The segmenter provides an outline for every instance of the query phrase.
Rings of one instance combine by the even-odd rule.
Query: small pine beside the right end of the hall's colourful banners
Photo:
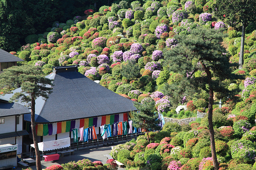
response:
[[[146,98],[142,104],[134,102],[133,105],[139,110],[133,111],[131,118],[132,125],[136,128],[146,129],[147,140],[149,142],[148,132],[149,130],[160,130],[160,120],[157,120],[158,114],[155,109],[155,101],[151,98]]]

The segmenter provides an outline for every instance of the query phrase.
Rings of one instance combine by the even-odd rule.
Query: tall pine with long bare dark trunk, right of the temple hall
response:
[[[169,64],[169,70],[183,75],[181,81],[177,84],[183,87],[183,92],[191,92],[192,87],[195,90],[202,88],[209,93],[208,105],[208,123],[211,140],[211,154],[214,169],[218,170],[219,165],[215,150],[214,129],[212,124],[212,105],[214,102],[214,91],[221,91],[220,82],[231,77],[229,60],[223,55],[225,49],[221,47],[219,41],[223,34],[214,29],[198,27],[191,31],[190,35],[176,35],[178,45],[172,50],[165,51],[165,59]],[[195,72],[204,72],[202,76],[195,76]],[[188,84],[189,88],[183,84]],[[169,90],[167,89],[166,92]],[[173,91],[180,91],[173,88]],[[172,95],[172,94],[167,94]],[[181,96],[182,97],[182,96]]]

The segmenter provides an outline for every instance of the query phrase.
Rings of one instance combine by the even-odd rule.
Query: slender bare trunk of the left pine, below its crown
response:
[[[37,135],[35,132],[35,99],[31,98],[31,129],[32,129],[32,135],[33,135],[33,142],[35,146],[35,165],[37,167],[37,170],[42,170],[41,166],[41,158],[38,148],[38,142],[37,142]]]

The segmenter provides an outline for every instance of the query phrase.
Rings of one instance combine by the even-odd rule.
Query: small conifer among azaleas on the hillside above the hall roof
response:
[[[140,67],[134,60],[128,60],[121,66],[121,74],[127,79],[133,80],[139,75]],[[131,83],[132,86],[132,83]]]

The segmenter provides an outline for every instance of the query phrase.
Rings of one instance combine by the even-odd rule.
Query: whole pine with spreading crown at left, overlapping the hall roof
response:
[[[7,68],[0,74],[0,88],[13,89],[21,87],[20,92],[14,93],[11,100],[19,100],[31,107],[31,129],[35,146],[37,170],[42,170],[37,135],[35,131],[35,99],[39,96],[47,99],[51,92],[52,80],[45,78],[39,67],[23,65]]]

